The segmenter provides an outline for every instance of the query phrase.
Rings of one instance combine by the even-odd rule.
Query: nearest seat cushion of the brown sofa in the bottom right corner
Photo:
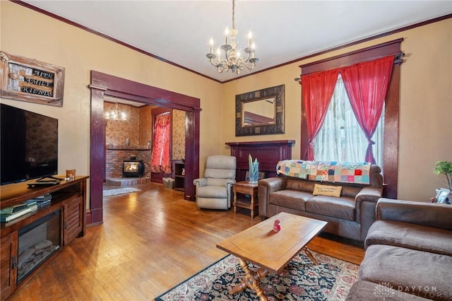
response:
[[[432,300],[451,300],[452,257],[372,244],[359,266],[359,279]]]

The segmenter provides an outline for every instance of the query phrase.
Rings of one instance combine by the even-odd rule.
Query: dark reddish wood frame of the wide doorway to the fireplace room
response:
[[[88,225],[103,222],[102,185],[105,181],[104,96],[123,98],[186,112],[185,192],[184,199],[194,200],[193,179],[199,177],[199,98],[91,71],[91,135],[90,135],[90,206]]]

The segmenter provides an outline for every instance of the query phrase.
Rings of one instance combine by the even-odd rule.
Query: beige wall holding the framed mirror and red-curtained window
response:
[[[223,141],[294,139],[292,158],[300,155],[301,88],[294,81],[299,65],[403,37],[407,54],[401,66],[398,198],[416,201],[446,187],[434,175],[436,160],[452,160],[452,19],[390,35],[294,64],[226,83],[223,89]],[[235,137],[235,95],[285,84],[285,134]],[[227,154],[229,149],[222,147]]]

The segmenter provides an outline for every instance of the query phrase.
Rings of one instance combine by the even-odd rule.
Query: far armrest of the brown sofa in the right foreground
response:
[[[422,203],[398,199],[379,199],[377,220],[396,220],[403,223],[452,230],[452,206],[444,203]]]

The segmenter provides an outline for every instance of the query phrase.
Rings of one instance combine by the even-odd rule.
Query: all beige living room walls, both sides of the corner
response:
[[[348,47],[309,60],[220,84],[36,13],[0,1],[0,49],[66,69],[64,107],[5,102],[59,119],[59,172],[89,174],[90,71],[138,81],[201,99],[200,169],[206,156],[229,154],[225,142],[293,139],[299,158],[301,88],[294,81],[300,64],[403,37],[408,54],[401,68],[399,189],[402,199],[429,199],[444,179],[432,173],[436,160],[452,160],[452,19]],[[18,22],[17,20],[20,20]],[[33,33],[30,34],[30,28]],[[285,84],[285,134],[235,137],[235,95]],[[220,108],[220,110],[218,110]],[[221,126],[216,126],[220,122]],[[215,126],[213,126],[215,125]]]

